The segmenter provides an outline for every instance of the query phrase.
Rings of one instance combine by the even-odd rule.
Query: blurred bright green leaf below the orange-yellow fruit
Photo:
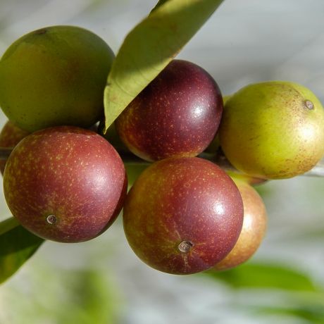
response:
[[[235,289],[275,288],[288,291],[317,292],[311,278],[285,266],[247,263],[237,268],[217,272],[208,270],[206,275],[223,281]]]

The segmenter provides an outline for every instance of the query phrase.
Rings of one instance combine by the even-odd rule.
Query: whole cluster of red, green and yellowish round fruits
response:
[[[2,56],[0,106],[10,121],[0,147],[15,148],[1,171],[13,216],[44,239],[82,242],[123,208],[130,247],[153,268],[189,274],[246,261],[266,230],[251,183],[293,177],[320,160],[320,102],[301,85],[263,82],[223,107],[206,70],[173,60],[104,135],[113,58],[102,39],[72,26],[30,32]],[[242,177],[197,157],[216,154],[218,142]],[[128,194],[118,146],[153,162]]]

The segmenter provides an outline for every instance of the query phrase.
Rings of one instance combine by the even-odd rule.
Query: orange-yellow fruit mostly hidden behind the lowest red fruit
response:
[[[232,180],[237,185],[243,201],[243,226],[235,247],[213,267],[215,270],[228,270],[249,260],[266,233],[268,216],[262,198],[248,182],[235,177],[232,177]]]

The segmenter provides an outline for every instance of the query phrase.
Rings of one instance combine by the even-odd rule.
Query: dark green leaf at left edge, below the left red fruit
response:
[[[0,223],[0,283],[11,277],[44,242],[15,218]]]

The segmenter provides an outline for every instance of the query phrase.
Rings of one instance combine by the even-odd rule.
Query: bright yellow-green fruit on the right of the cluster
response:
[[[264,179],[294,177],[324,154],[324,109],[306,87],[248,85],[225,104],[220,145],[235,168]]]

